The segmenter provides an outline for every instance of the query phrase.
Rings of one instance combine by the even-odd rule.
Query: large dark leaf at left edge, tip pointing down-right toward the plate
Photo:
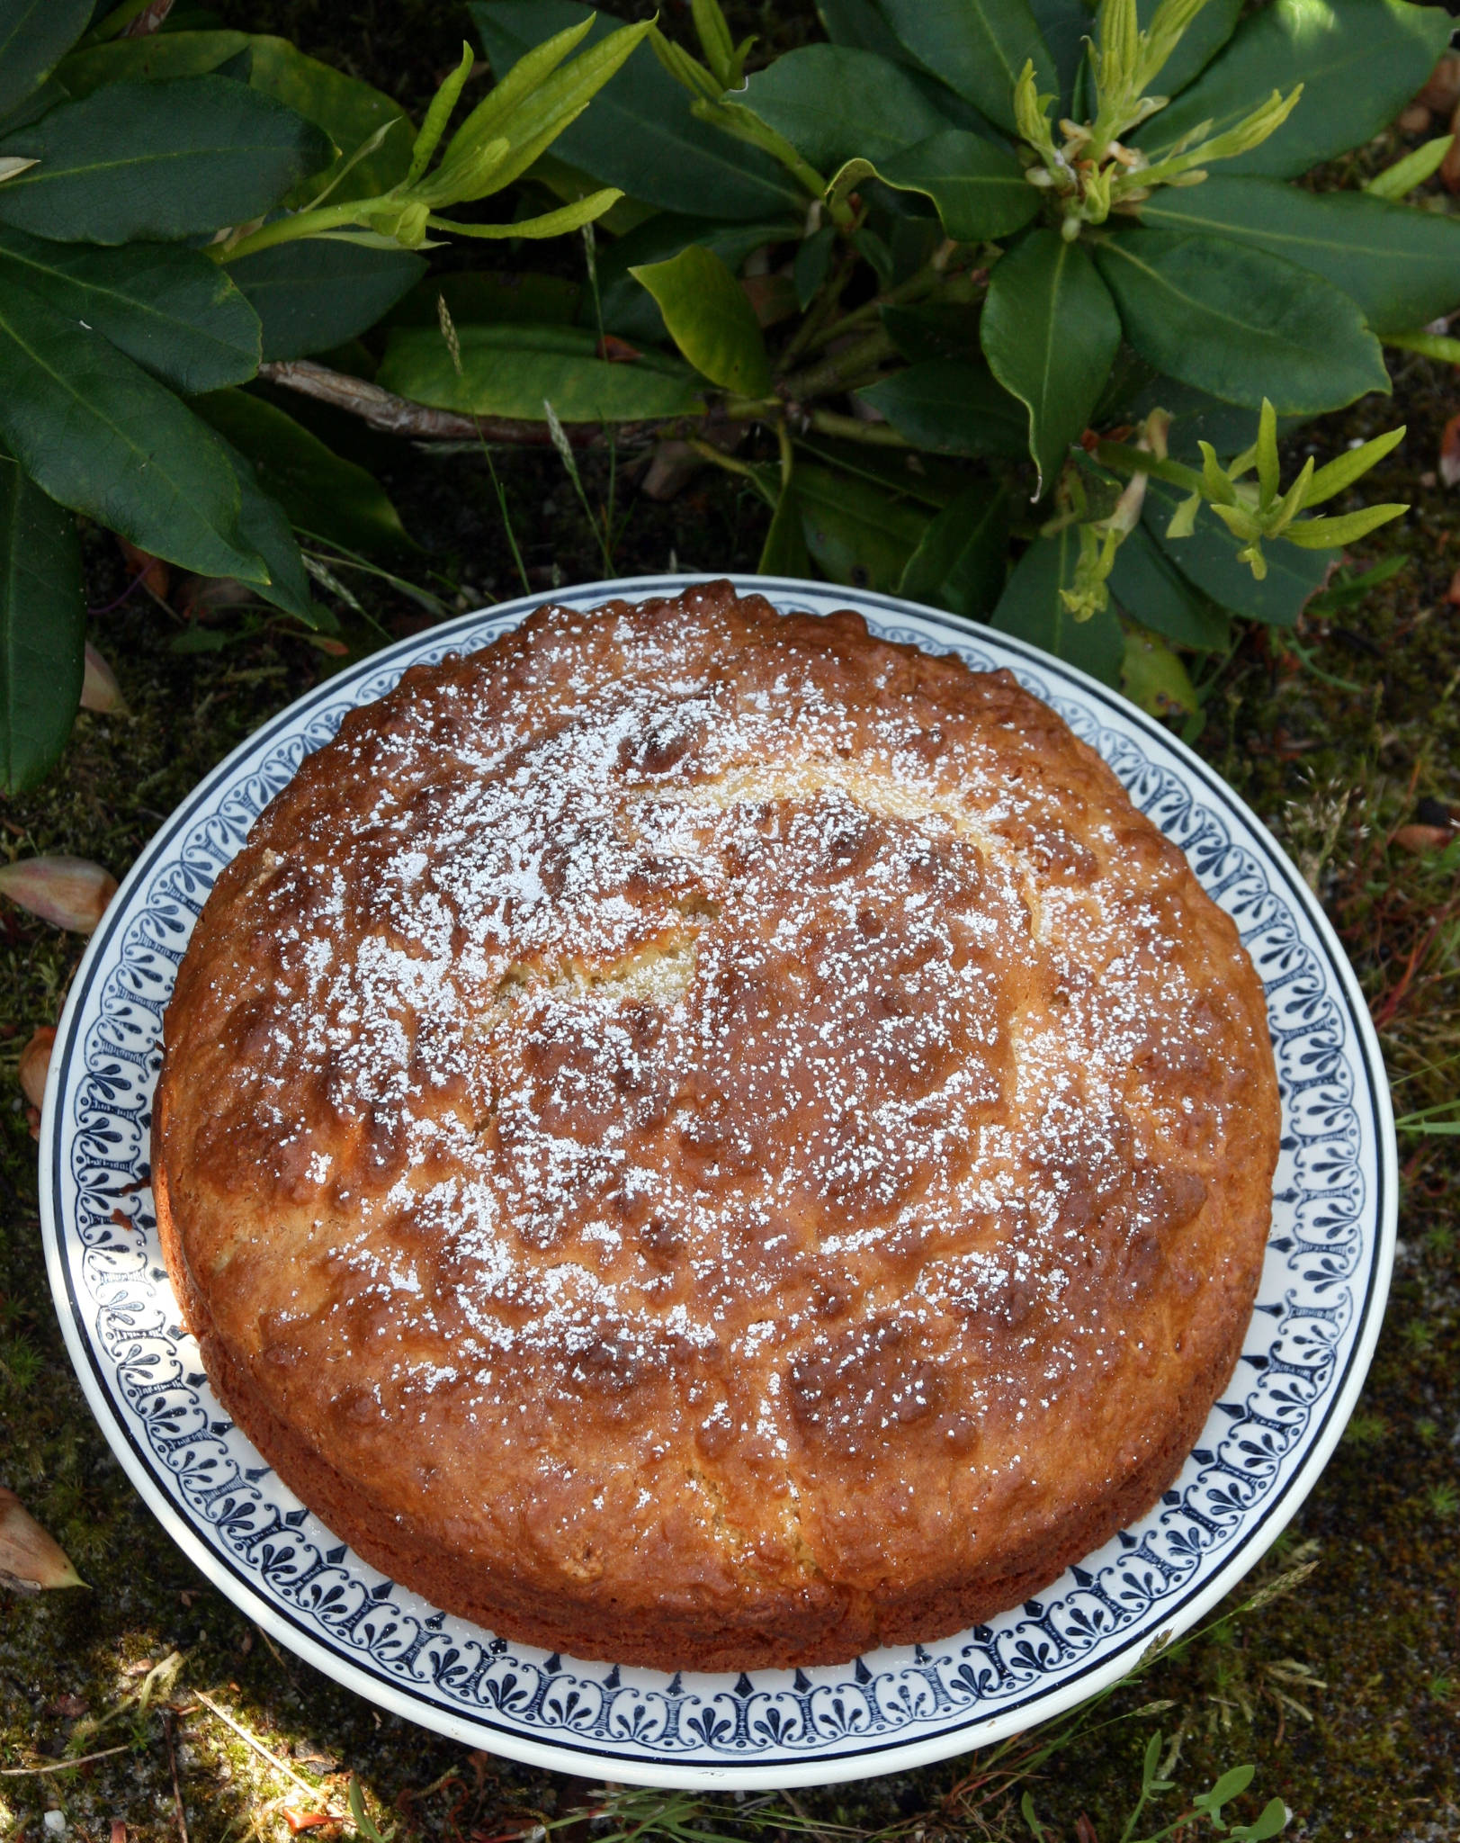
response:
[[[264,582],[221,444],[98,332],[0,280],[0,439],[61,505],[144,551]]]

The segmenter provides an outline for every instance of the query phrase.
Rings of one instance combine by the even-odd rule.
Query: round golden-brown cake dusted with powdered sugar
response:
[[[1226,914],[1008,673],[728,582],[300,767],[153,1124],[212,1382],[374,1567],[664,1670],[1047,1585],[1226,1384],[1278,1156]]]

